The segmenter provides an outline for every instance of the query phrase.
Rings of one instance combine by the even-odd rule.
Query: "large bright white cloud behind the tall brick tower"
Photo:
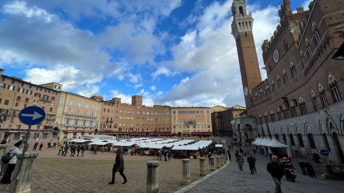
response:
[[[214,2],[206,7],[201,16],[194,18],[196,28],[189,29],[171,48],[174,60],[166,64],[174,71],[191,75],[181,79],[166,96],[157,98],[157,102],[172,106],[245,106],[236,43],[230,34],[231,2]],[[248,5],[248,10],[255,18],[253,30],[262,67],[261,42],[276,29],[278,8]]]

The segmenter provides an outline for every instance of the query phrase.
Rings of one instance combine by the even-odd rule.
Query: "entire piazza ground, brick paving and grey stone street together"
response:
[[[195,138],[193,138],[195,139]],[[226,139],[227,144],[230,142]],[[203,138],[204,140],[204,138]],[[33,142],[29,143],[32,150]],[[48,149],[47,142],[43,142],[43,150],[35,163],[31,193],[144,193],[146,183],[146,162],[152,160],[152,156],[123,156],[128,182],[122,185],[122,177],[119,173],[115,176],[115,185],[108,185],[111,180],[112,167],[115,163],[115,153],[98,151],[98,154],[86,152],[85,157],[57,156],[57,149]],[[8,143],[7,145],[13,145]],[[9,148],[9,147],[8,147]],[[38,148],[37,148],[38,149]],[[251,149],[244,147],[243,149]],[[70,153],[69,153],[70,154]],[[171,159],[171,162],[161,161],[159,165],[159,192],[162,193],[274,193],[275,184],[266,171],[266,163],[269,161],[263,155],[257,157],[257,175],[251,175],[246,157],[244,173],[240,174],[234,163],[234,152],[231,151],[232,161],[227,167],[210,173],[207,164],[207,176],[199,176],[199,160],[191,160],[191,178],[194,182],[189,186],[182,185],[182,161]],[[296,182],[282,179],[282,190],[284,193],[342,193],[344,181],[322,180],[321,174],[325,172],[322,164],[314,164],[317,178],[302,175],[297,165],[300,158],[293,158]],[[305,160],[305,159],[303,159]],[[8,188],[8,187],[7,187]],[[1,189],[0,189],[1,190]],[[2,189],[4,190],[4,189]]]

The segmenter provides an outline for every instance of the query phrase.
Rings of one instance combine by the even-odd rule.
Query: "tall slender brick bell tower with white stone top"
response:
[[[245,102],[252,99],[251,90],[261,82],[255,41],[252,34],[253,19],[251,13],[246,12],[246,0],[233,0],[231,11],[233,22],[232,34],[238,51],[242,86]]]

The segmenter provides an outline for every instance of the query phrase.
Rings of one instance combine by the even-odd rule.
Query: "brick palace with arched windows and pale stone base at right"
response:
[[[283,1],[280,24],[261,46],[267,79],[245,98],[251,121],[233,122],[239,140],[247,140],[246,129],[287,143],[294,155],[326,149],[330,162],[344,163],[344,61],[334,57],[344,42],[341,7],[340,0],[314,0],[292,13]]]

